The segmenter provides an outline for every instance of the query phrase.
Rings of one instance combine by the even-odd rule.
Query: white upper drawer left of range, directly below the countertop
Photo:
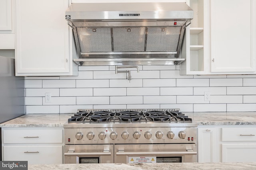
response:
[[[4,130],[3,143],[62,143],[62,129]]]

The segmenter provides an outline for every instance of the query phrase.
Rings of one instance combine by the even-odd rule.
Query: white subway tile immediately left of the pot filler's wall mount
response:
[[[94,71],[93,78],[94,79],[126,79],[126,73],[118,73],[115,71]]]

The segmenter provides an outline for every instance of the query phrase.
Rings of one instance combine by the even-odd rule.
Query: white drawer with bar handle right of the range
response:
[[[256,141],[256,128],[222,128],[222,141]]]

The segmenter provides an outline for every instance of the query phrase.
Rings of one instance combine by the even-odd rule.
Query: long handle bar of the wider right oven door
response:
[[[116,152],[116,155],[196,155],[195,151],[187,152]]]

